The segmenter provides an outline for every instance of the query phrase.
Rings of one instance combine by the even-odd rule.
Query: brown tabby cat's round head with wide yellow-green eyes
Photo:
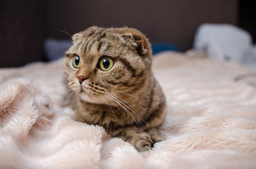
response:
[[[138,30],[90,27],[73,36],[65,76],[82,100],[112,105],[146,92],[151,60],[150,43]]]

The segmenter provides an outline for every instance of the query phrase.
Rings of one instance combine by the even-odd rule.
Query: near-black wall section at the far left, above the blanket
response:
[[[0,67],[43,60],[45,0],[1,0]]]

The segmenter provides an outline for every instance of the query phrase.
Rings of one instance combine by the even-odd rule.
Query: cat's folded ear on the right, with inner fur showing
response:
[[[122,38],[137,50],[141,56],[148,56],[152,60],[152,49],[148,39],[137,29],[125,28]]]

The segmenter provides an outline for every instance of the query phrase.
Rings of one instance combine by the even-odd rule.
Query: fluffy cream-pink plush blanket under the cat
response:
[[[0,168],[256,168],[255,70],[233,62],[159,54],[166,139],[149,152],[73,120],[61,61],[0,69]]]

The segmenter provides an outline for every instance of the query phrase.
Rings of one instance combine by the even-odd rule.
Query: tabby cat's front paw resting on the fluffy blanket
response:
[[[143,133],[138,137],[130,138],[128,141],[133,145],[138,151],[148,151],[153,147],[153,141],[149,134]]]

